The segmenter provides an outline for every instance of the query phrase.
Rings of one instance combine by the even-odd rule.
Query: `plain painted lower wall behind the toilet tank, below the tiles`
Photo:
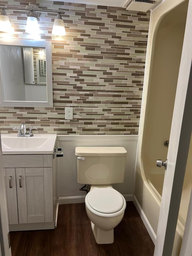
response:
[[[58,135],[58,146],[64,148],[64,157],[58,159],[58,197],[78,197],[86,195],[79,191],[82,185],[77,183],[77,146],[122,146],[128,152],[125,168],[125,180],[113,187],[123,195],[134,192],[134,168],[137,151],[137,135]]]

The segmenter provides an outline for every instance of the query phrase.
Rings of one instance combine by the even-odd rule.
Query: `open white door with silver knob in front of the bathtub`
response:
[[[155,256],[172,254],[192,130],[192,0],[189,0],[167,155]],[[162,120],[163,122],[163,120]],[[166,159],[164,159],[165,161]]]

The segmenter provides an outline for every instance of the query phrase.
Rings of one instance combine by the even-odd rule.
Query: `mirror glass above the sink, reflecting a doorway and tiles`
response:
[[[0,45],[0,60],[5,101],[47,101],[45,48]]]

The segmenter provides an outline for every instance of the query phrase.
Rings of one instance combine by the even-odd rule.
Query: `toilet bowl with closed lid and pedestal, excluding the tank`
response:
[[[122,220],[125,198],[112,186],[91,186],[85,197],[85,209],[98,244],[114,242],[113,229]]]

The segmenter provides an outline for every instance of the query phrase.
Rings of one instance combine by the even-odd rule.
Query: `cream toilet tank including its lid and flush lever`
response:
[[[127,151],[123,147],[76,147],[77,182],[104,185],[124,181]]]

